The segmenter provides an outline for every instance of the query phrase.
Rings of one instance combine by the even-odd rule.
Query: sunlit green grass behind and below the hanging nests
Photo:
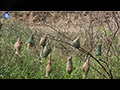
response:
[[[10,23],[11,22],[11,23]],[[59,29],[59,25],[57,26]],[[36,34],[35,42],[36,47],[39,46],[39,39],[42,37],[41,29]],[[81,67],[84,64],[84,61],[80,60],[76,55],[68,54],[68,52],[62,52],[62,50],[53,49],[52,53],[52,72],[48,78],[45,77],[46,71],[45,67],[48,63],[48,58],[43,59],[40,57],[40,52],[36,52],[36,48],[32,47],[29,51],[26,50],[26,41],[29,36],[32,34],[32,29],[30,29],[26,24],[20,23],[18,21],[12,22],[11,20],[6,20],[6,23],[2,26],[1,32],[2,37],[0,38],[0,79],[83,79],[83,72]],[[49,32],[47,32],[49,33]],[[15,55],[14,44],[20,35],[21,41],[23,42],[19,56]],[[75,34],[69,34],[70,38],[73,38]],[[60,37],[64,38],[64,37]],[[66,41],[66,40],[65,40]],[[57,45],[55,41],[52,41],[53,44]],[[73,56],[73,67],[75,70],[68,75],[66,72],[66,63],[68,55]],[[99,58],[99,57],[97,57]],[[83,57],[83,59],[85,59]],[[111,60],[114,60],[115,57],[112,56]],[[39,61],[42,60],[42,66]],[[91,59],[94,62],[93,59]],[[95,64],[94,64],[95,63]],[[102,69],[98,67],[96,62],[91,63],[99,71]],[[114,65],[113,65],[114,63]],[[120,61],[114,61],[110,63],[112,65],[112,72],[115,78],[120,78]],[[90,71],[86,79],[101,79],[100,76],[95,70],[90,67]]]

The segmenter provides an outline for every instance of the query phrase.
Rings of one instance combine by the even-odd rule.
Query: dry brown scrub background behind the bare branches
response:
[[[90,66],[104,78],[113,79],[111,56],[118,56],[120,45],[120,12],[82,11],[82,12],[10,12],[15,20],[25,22],[33,32],[47,33],[52,47],[63,53],[76,54],[80,60],[90,56]],[[48,33],[49,32],[49,33]],[[41,35],[42,36],[42,35]],[[79,49],[72,48],[71,42],[80,37]],[[38,36],[39,37],[39,36]],[[116,42],[115,42],[116,40]],[[102,57],[94,56],[96,42],[102,41]],[[117,42],[118,41],[118,42]],[[37,47],[37,46],[36,46]],[[59,53],[59,52],[58,52]],[[93,65],[99,65],[101,71]],[[105,65],[103,65],[103,63]]]

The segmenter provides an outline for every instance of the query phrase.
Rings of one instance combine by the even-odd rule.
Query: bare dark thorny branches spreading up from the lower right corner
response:
[[[109,28],[110,32],[112,32],[112,34],[113,34],[113,35],[112,35],[112,36],[113,36],[113,37],[112,37],[112,40],[110,40],[110,39],[108,38],[108,36],[107,36],[107,32],[106,32],[106,30],[105,30],[105,27],[104,27],[104,25],[103,25],[103,22],[102,22],[101,20],[99,20],[98,17],[96,17],[96,16],[94,15],[94,12],[91,12],[91,13],[92,13],[92,15],[94,16],[94,18],[95,18],[96,20],[98,20],[99,23],[102,25],[103,31],[104,31],[104,33],[105,33],[105,38],[106,38],[106,40],[108,41],[108,43],[107,43],[107,48],[108,48],[108,49],[107,49],[107,52],[106,52],[106,60],[107,60],[107,62],[104,61],[104,60],[102,60],[101,58],[98,60],[96,57],[94,57],[94,56],[90,53],[91,51],[85,50],[85,49],[82,48],[82,47],[80,47],[78,50],[79,50],[80,52],[86,54],[86,55],[90,55],[90,57],[93,58],[93,60],[95,60],[95,61],[103,68],[103,70],[106,72],[106,74],[107,74],[108,76],[106,76],[105,74],[101,73],[101,72],[98,71],[96,68],[94,68],[92,65],[90,65],[95,71],[97,71],[99,74],[101,74],[101,75],[104,76],[105,78],[108,78],[108,77],[109,77],[109,78],[113,79],[113,75],[112,75],[112,72],[111,72],[111,68],[110,68],[110,66],[109,66],[109,64],[108,64],[108,59],[109,59],[110,47],[112,47],[113,40],[114,40],[114,38],[116,37],[116,34],[117,34],[118,30],[119,30],[118,20],[117,20],[115,14],[112,13],[112,19],[115,20],[116,25],[117,25],[117,29],[114,28],[114,29],[116,29],[115,32],[112,32],[113,30],[112,30],[112,27],[110,26],[110,24],[109,24],[109,22],[108,22],[108,18],[107,18],[106,16],[104,16],[104,18],[105,18],[105,20],[106,20],[105,23],[108,25],[108,28]],[[91,15],[91,13],[90,13],[90,15]],[[104,15],[105,15],[105,14],[106,14],[106,13],[104,13]],[[75,53],[78,57],[80,57],[80,59],[82,59],[82,58],[81,58],[81,55],[79,55],[74,49],[72,49],[72,44],[69,43],[69,41],[72,41],[71,38],[69,38],[69,37],[67,37],[66,35],[62,34],[59,30],[55,29],[55,28],[54,28],[53,26],[51,26],[51,25],[46,25],[46,24],[43,24],[43,25],[44,25],[44,26],[47,26],[47,27],[50,27],[52,30],[54,30],[55,32],[57,32],[59,35],[61,35],[61,36],[63,36],[64,38],[68,39],[68,42],[66,42],[65,40],[61,40],[61,39],[60,39],[60,40],[59,40],[59,39],[55,39],[54,36],[48,34],[48,36],[49,36],[49,38],[50,38],[51,40],[55,40],[55,41],[59,42],[59,44],[64,48],[64,50],[67,50],[68,52],[73,52],[73,53]],[[91,34],[93,33],[93,32],[91,32],[91,30],[90,30],[90,29],[91,29],[91,26],[92,26],[92,18],[91,18],[91,16],[90,16],[90,24],[89,24],[88,34],[89,34],[90,39],[95,39],[95,37],[91,36]],[[80,32],[80,30],[78,31],[77,35],[79,34],[79,32]],[[92,34],[92,35],[93,35],[93,34]],[[66,44],[66,45],[68,45],[68,46],[70,46],[70,48],[68,48],[68,47],[66,48],[66,46],[63,45],[63,43]],[[96,44],[95,44],[95,45],[96,45]],[[91,47],[93,46],[93,48],[94,48],[95,45],[93,46],[93,43],[91,42]],[[59,48],[59,49],[63,49],[63,48],[60,48],[60,47],[57,47],[57,46],[55,46],[55,47],[56,47],[56,48]],[[82,54],[82,53],[81,53],[81,54]],[[83,59],[82,59],[82,60],[83,60]],[[83,61],[85,61],[85,60],[83,60]],[[103,66],[103,65],[101,64],[100,61],[106,64],[108,70],[107,70],[107,68],[105,68],[105,66]]]

